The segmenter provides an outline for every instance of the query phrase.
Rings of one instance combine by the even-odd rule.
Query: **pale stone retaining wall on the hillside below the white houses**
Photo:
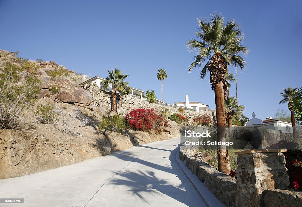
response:
[[[85,88],[85,86],[82,86]],[[90,105],[91,108],[101,108],[101,111],[110,111],[111,110],[111,105],[112,105],[112,95],[111,92],[108,91],[101,91],[99,87],[91,85],[85,88],[92,94],[92,103]],[[117,105],[118,101],[120,99],[119,94],[117,94]],[[177,108],[172,108],[172,107],[165,107],[161,106],[156,103],[149,103],[148,101],[140,100],[137,98],[133,97],[123,97],[122,104],[121,104],[121,109],[120,113],[123,115],[127,114],[127,109],[137,109],[137,108],[153,108],[156,110],[161,110],[162,107],[167,108],[170,110],[171,113],[179,113]],[[205,111],[204,113],[209,114],[210,116],[213,117],[214,122],[216,122],[216,112],[213,110],[211,111]],[[204,114],[202,112],[197,112],[197,111],[189,111],[185,110],[184,115],[188,117],[188,124],[192,125],[193,124],[193,118],[196,116],[201,116]]]

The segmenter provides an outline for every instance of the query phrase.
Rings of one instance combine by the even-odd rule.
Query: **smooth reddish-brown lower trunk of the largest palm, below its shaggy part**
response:
[[[218,82],[215,85],[214,93],[217,119],[217,141],[226,142],[226,115],[224,106],[224,89],[222,82]],[[230,174],[230,159],[226,146],[218,145],[217,159],[218,171]]]

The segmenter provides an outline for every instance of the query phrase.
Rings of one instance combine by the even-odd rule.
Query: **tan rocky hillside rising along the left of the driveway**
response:
[[[31,61],[0,50],[0,66],[18,67],[31,63],[41,79],[40,93],[22,112],[15,126],[0,129],[0,179],[17,177],[77,163],[133,145],[171,139],[180,135],[179,126],[159,135],[127,130],[123,133],[99,131],[97,125],[106,108],[91,107],[92,94],[79,87],[87,75],[76,74],[55,62]],[[57,116],[54,123],[42,124],[37,107],[50,104]]]

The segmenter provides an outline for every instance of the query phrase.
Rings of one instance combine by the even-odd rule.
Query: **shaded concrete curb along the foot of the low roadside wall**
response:
[[[191,181],[191,183],[194,185],[202,199],[204,199],[204,202],[209,207],[225,207],[215,196],[214,194],[207,189],[207,187],[202,183],[198,177],[191,172],[191,170],[188,169],[187,166],[185,166],[185,163],[179,158],[179,148],[176,154],[176,161],[179,164],[179,166],[182,168],[182,171],[184,171],[185,175],[188,177],[188,179]]]

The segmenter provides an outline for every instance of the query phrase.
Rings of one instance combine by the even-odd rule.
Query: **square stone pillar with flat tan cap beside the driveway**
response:
[[[289,186],[285,157],[286,149],[246,150],[237,154],[236,206],[264,206],[265,189]]]

